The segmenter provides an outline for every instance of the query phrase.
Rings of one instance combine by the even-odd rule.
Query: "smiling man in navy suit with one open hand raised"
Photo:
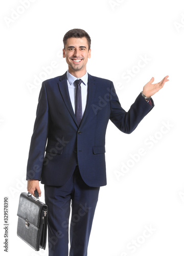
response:
[[[106,185],[108,121],[131,133],[153,108],[150,97],[168,76],[155,84],[152,77],[126,112],[113,83],[86,72],[91,54],[89,35],[73,29],[64,35],[63,43],[68,71],[43,81],[39,95],[28,159],[28,191],[34,195],[37,189],[41,196],[39,181],[44,184],[49,256],[68,255],[71,202],[70,256],[86,256],[99,189]]]

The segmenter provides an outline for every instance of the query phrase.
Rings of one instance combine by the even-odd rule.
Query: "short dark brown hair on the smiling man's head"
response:
[[[75,38],[85,37],[87,39],[88,47],[90,49],[90,44],[91,44],[90,36],[83,29],[71,29],[68,32],[66,32],[66,34],[63,37],[64,49],[65,49],[66,41],[70,37],[75,37]]]

